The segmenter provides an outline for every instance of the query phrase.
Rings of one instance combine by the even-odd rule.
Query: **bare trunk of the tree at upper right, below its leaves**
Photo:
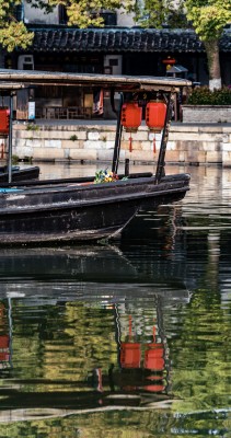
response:
[[[205,42],[205,48],[208,59],[209,70],[209,89],[221,89],[220,58],[219,58],[219,39]]]

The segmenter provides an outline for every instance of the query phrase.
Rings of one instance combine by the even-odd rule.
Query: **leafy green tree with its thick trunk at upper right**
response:
[[[136,20],[143,26],[194,27],[204,42],[209,70],[210,90],[221,88],[219,39],[231,23],[231,0],[145,0],[136,10]],[[185,20],[186,19],[186,20]]]

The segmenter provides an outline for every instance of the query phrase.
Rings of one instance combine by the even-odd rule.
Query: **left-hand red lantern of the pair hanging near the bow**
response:
[[[122,107],[122,125],[125,130],[136,132],[142,120],[142,108],[138,103],[128,102],[124,103]]]

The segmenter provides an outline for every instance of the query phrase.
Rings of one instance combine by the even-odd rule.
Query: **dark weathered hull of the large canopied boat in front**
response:
[[[105,184],[69,184],[0,193],[0,245],[90,241],[115,235],[146,205],[183,197],[189,177],[154,184],[154,177]],[[150,204],[151,203],[151,204]]]

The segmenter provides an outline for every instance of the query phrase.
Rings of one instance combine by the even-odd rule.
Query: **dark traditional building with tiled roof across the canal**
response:
[[[34,32],[33,45],[27,50],[5,55],[5,68],[48,71],[165,76],[169,61],[181,69],[183,76],[200,84],[208,84],[205,47],[193,30],[142,28],[135,26],[132,15],[123,11],[105,11],[105,27],[85,28],[67,25],[63,7],[53,13],[32,8],[25,1],[19,9],[20,19]],[[2,62],[1,62],[2,64]],[[222,83],[231,84],[231,28],[220,41]],[[183,67],[183,68],[182,68]],[[22,99],[23,101],[23,99]],[[24,99],[25,101],[25,99]],[[68,88],[39,88],[35,90],[36,116],[61,117],[61,110],[73,108],[72,117],[92,116],[93,94]],[[24,114],[23,104],[22,112]],[[56,114],[51,108],[56,107]],[[78,110],[80,108],[80,110]],[[76,110],[76,113],[74,113]],[[79,111],[79,114],[78,114]],[[63,111],[62,111],[63,113]],[[70,114],[70,112],[69,112]],[[107,112],[106,112],[107,114]],[[63,115],[65,117],[65,115]]]

